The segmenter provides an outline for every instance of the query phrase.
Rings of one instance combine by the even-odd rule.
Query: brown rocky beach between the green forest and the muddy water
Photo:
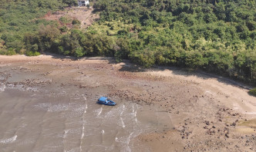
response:
[[[174,127],[134,139],[151,151],[256,151],[256,97],[248,95],[244,84],[175,68],[143,70],[111,58],[0,56],[0,68],[15,66],[19,74],[52,78],[43,82],[28,77],[20,82],[25,85],[69,84],[91,91],[91,96],[107,88],[109,97],[163,107]]]

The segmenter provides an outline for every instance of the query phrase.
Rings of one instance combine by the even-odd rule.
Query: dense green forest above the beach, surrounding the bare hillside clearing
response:
[[[87,29],[68,18],[60,18],[61,25],[40,19],[76,0],[0,1],[1,54],[107,56],[256,84],[254,0],[97,0],[100,19]]]

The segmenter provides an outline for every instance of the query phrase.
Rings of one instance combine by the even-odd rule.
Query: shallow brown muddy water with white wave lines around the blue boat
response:
[[[114,107],[99,105],[83,89],[24,87],[15,77],[0,84],[1,151],[150,151],[134,139],[173,127],[158,107],[118,97]]]

